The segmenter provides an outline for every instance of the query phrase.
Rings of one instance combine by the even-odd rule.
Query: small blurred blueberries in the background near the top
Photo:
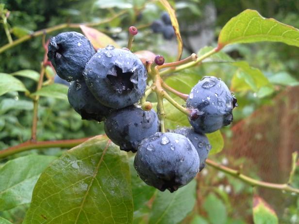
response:
[[[160,19],[154,20],[150,25],[150,28],[152,32],[162,33],[166,40],[171,40],[175,36],[170,16],[166,12],[161,14]]]

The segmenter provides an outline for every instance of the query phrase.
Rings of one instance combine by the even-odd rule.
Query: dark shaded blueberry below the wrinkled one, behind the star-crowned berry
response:
[[[111,111],[91,94],[84,79],[73,81],[68,89],[69,104],[83,120],[102,121]]]

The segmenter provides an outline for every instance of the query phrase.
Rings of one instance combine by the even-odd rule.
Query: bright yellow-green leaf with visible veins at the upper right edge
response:
[[[247,9],[231,18],[222,28],[218,48],[233,43],[258,41],[282,42],[299,47],[299,30],[273,18],[266,19],[257,11]]]

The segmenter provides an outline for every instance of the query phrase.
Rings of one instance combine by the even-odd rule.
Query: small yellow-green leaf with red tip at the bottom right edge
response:
[[[278,224],[275,211],[259,196],[253,197],[254,224]]]

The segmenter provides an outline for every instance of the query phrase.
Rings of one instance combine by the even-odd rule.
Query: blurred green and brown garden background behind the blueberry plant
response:
[[[216,46],[217,35],[224,24],[245,9],[256,9],[262,16],[273,17],[285,24],[299,28],[299,1],[297,0],[182,0],[170,1],[176,8],[183,36],[183,58],[198,52],[205,45]],[[161,34],[150,30],[150,24],[163,12],[161,5],[146,0],[1,0],[10,11],[8,24],[13,39],[61,23],[97,22],[126,10],[122,16],[108,24],[96,27],[125,47],[127,29],[139,28],[133,51],[147,49],[163,54],[166,62],[175,59],[175,39],[164,40]],[[60,30],[47,34],[47,38]],[[76,30],[80,32],[79,30]],[[0,46],[7,44],[3,27],[0,28]],[[234,124],[223,128],[225,147],[212,158],[249,176],[266,181],[282,182],[290,169],[290,155],[299,149],[299,50],[282,43],[256,43],[233,45],[224,51],[236,61],[247,61],[258,68],[273,89],[270,91],[235,91],[239,107],[234,111]],[[0,54],[0,72],[13,73],[23,69],[39,72],[44,49],[42,38],[36,37]],[[204,63],[200,67],[184,70],[173,77],[192,84],[204,75],[214,75],[233,86],[233,77],[240,69],[231,63]],[[19,77],[27,89],[34,91],[33,80]],[[171,78],[169,78],[171,79]],[[189,80],[188,80],[189,79]],[[171,80],[169,80],[171,82]],[[176,82],[173,87],[179,88]],[[177,86],[176,86],[177,85]],[[192,85],[191,85],[192,86]],[[272,88],[272,87],[271,87]],[[184,89],[188,93],[188,89]],[[38,140],[75,139],[103,133],[102,124],[81,120],[67,100],[41,97],[38,111]],[[276,110],[274,110],[276,109]],[[25,142],[31,137],[33,103],[22,93],[0,96],[0,149]],[[175,110],[175,109],[173,109]],[[291,115],[288,112],[293,112]],[[264,114],[261,121],[261,115]],[[287,114],[287,115],[286,115]],[[277,119],[273,119],[273,117]],[[273,121],[274,120],[274,121]],[[286,131],[290,128],[291,131]],[[259,124],[263,124],[262,126]],[[272,130],[272,132],[270,131]],[[265,139],[266,135],[270,136]],[[249,138],[250,136],[250,138]],[[294,137],[295,136],[295,137]],[[296,138],[297,136],[297,138]],[[280,144],[281,148],[269,142]],[[250,147],[249,147],[250,146]],[[246,150],[245,150],[246,148]],[[17,154],[43,153],[60,155],[61,150],[51,148]],[[282,159],[284,163],[282,164]],[[11,158],[8,158],[11,159]],[[275,162],[276,163],[275,163]],[[274,169],[274,170],[273,170]],[[272,175],[270,175],[272,174]],[[299,187],[299,171],[294,185]],[[182,221],[192,224],[245,224],[252,223],[253,189],[234,179],[206,167],[198,177],[197,203],[189,216]],[[255,189],[256,190],[256,189]],[[261,190],[266,201],[278,213],[280,223],[299,224],[298,195]],[[0,216],[21,223],[27,206],[1,212]],[[139,212],[139,213],[138,213]],[[179,211],[178,211],[179,212]],[[135,223],[146,223],[147,212],[135,211]],[[140,217],[138,218],[138,214]]]

